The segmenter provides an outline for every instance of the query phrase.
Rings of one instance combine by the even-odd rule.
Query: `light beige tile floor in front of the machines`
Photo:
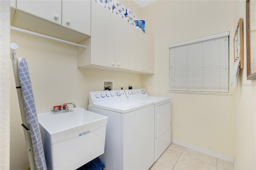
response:
[[[170,144],[150,170],[234,170],[234,164]]]

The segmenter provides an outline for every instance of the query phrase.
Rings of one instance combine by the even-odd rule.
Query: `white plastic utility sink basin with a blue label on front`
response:
[[[103,154],[107,120],[81,107],[38,114],[47,169],[77,169]]]

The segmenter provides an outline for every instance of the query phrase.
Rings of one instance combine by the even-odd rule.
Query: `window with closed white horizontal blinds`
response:
[[[169,91],[229,91],[229,32],[169,45]]]

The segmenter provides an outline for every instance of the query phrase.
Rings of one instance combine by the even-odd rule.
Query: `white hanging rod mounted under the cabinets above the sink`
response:
[[[81,44],[78,44],[78,43],[68,42],[66,40],[61,40],[61,39],[50,37],[50,36],[46,36],[46,35],[43,35],[43,34],[38,34],[36,32],[31,32],[31,31],[28,31],[28,30],[23,30],[23,29],[16,28],[16,27],[13,27],[13,26],[11,26],[11,30],[15,30],[15,31],[18,31],[18,32],[23,32],[23,33],[26,33],[26,34],[31,34],[31,35],[34,35],[34,36],[48,38],[50,40],[54,40],[54,41],[63,42],[63,43],[67,43],[67,44],[70,44],[70,45],[75,45],[75,46],[78,46],[78,47],[86,48],[86,45],[81,45]]]

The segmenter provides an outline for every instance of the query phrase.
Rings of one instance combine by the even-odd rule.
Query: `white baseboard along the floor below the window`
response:
[[[181,141],[176,140],[176,139],[171,139],[171,143],[178,144],[178,145],[183,146],[185,148],[189,148],[189,149],[195,150],[197,152],[201,152],[201,153],[204,153],[204,154],[207,154],[207,155],[213,156],[215,158],[218,158],[218,159],[221,159],[221,160],[225,160],[227,162],[230,162],[230,163],[234,164],[234,160],[235,159],[230,157],[230,156],[226,156],[224,154],[220,154],[220,153],[217,153],[217,152],[213,152],[211,150],[200,148],[198,146],[194,146],[192,144],[181,142]]]

